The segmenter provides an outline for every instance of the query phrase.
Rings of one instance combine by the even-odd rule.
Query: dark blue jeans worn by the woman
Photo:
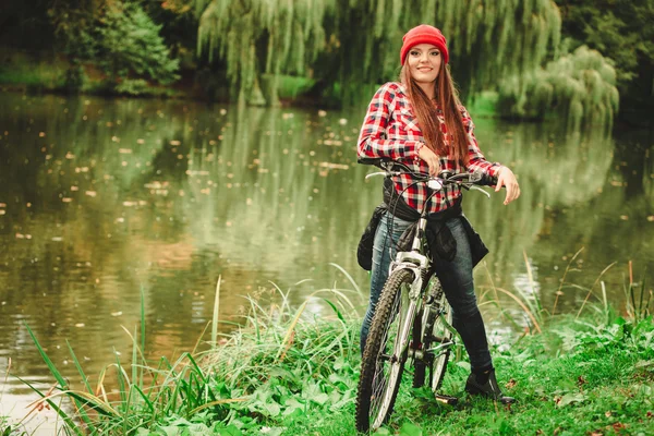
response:
[[[392,225],[392,229],[389,228],[389,222]],[[451,218],[446,225],[457,241],[457,255],[451,262],[436,259],[434,268],[440,279],[447,301],[452,306],[452,325],[465,346],[472,370],[475,372],[489,370],[493,367],[493,360],[488,351],[484,320],[474,294],[472,256],[468,234],[461,218]],[[395,259],[397,254],[395,244],[409,226],[411,226],[410,221],[404,221],[388,213],[379,220],[373,245],[371,300],[361,326],[362,354],[375,315],[375,307],[379,301],[384,283],[388,278],[390,262]],[[392,237],[393,243],[391,243],[389,235]]]

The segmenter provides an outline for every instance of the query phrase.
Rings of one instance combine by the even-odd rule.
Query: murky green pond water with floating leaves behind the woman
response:
[[[363,114],[0,93],[0,415],[17,420],[37,398],[14,376],[53,384],[25,324],[74,382],[65,341],[93,376],[114,352],[126,360],[121,326],[134,330],[142,293],[152,358],[193,349],[219,277],[223,320],[242,320],[243,295],[275,301],[275,287],[295,305],[349,290],[363,311],[355,246],[380,202],[380,180],[355,164]],[[483,300],[520,290],[578,311],[603,282],[623,310],[630,261],[651,288],[652,132],[475,124],[487,158],[511,166],[522,190],[509,206],[504,194],[465,195],[491,249],[475,270]],[[506,328],[484,310],[492,329]],[[329,311],[316,301],[308,312]]]

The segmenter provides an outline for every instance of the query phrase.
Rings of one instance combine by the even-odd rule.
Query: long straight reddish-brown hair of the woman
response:
[[[440,71],[436,77],[436,86],[434,87],[434,96],[427,96],[424,90],[417,85],[417,82],[411,76],[409,61],[404,62],[400,71],[400,82],[408,90],[408,97],[417,117],[420,130],[425,138],[427,147],[439,156],[449,156],[457,165],[467,166],[468,156],[468,134],[463,126],[461,118],[461,101],[459,94],[451,78],[449,65],[445,62],[440,63]],[[436,106],[432,101],[436,99],[438,107],[443,109],[445,125],[449,135],[449,146],[446,147],[440,122],[436,118]]]

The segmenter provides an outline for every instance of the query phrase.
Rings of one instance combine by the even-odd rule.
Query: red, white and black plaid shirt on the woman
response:
[[[444,132],[445,142],[450,140],[447,134],[445,118],[443,111],[437,111],[438,121]],[[474,124],[470,114],[461,106],[461,117],[463,125],[468,133],[468,153],[470,162],[467,170],[470,172],[482,171],[488,175],[496,175],[499,164],[488,162],[474,137]],[[411,108],[409,97],[404,93],[404,87],[395,82],[389,82],[382,86],[373,97],[368,106],[361,134],[359,135],[358,153],[361,157],[370,158],[390,158],[407,165],[415,172],[428,173],[429,167],[422,160],[417,153],[423,147],[424,138],[417,119]],[[440,169],[449,170],[455,173],[461,172],[457,168],[455,160],[450,156],[439,156]],[[425,183],[412,184],[413,180],[409,174],[393,177],[395,189],[407,204],[416,210],[422,210],[427,199],[427,186]],[[429,213],[444,210],[453,204],[453,201],[461,196],[461,189],[457,185],[447,185],[444,190],[437,192],[431,201]]]

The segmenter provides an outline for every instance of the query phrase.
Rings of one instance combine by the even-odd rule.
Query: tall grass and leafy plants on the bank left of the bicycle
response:
[[[217,292],[219,292],[217,290]],[[289,293],[279,289],[281,304],[264,308],[250,298],[247,325],[219,341],[209,354],[189,352],[174,362],[161,358],[158,366],[145,362],[145,301],[142,299],[141,341],[134,329],[132,364],[117,355],[107,365],[93,389],[80,361],[69,346],[83,388],[68,384],[55,363],[27,328],[37,350],[57,380],[57,391],[34,389],[73,434],[102,435],[241,435],[271,426],[267,434],[305,416],[307,411],[328,414],[344,410],[354,401],[359,348],[353,305],[339,290],[316,291],[310,300],[329,294],[334,316],[305,317],[304,308],[289,305]],[[217,319],[217,307],[215,319]],[[346,314],[346,316],[343,316]],[[125,329],[125,331],[128,331]],[[202,363],[198,361],[203,359]],[[130,368],[132,370],[130,372]],[[104,395],[109,373],[116,374],[117,396]],[[131,374],[131,376],[130,376]],[[59,397],[68,397],[76,412],[66,412]],[[77,425],[81,420],[84,424]]]

